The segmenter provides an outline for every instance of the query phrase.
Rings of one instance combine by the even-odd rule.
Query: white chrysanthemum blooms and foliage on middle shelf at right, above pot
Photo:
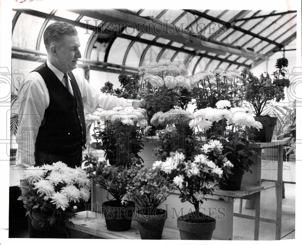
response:
[[[255,151],[252,150],[253,141],[248,139],[247,129],[254,127],[262,128],[260,122],[255,121],[249,108],[230,108],[230,102],[217,102],[219,108],[204,108],[194,112],[194,120],[191,121],[191,127],[197,128],[198,135],[202,141],[204,137],[206,143],[199,143],[202,152],[214,160],[217,157],[213,155],[213,149],[222,153],[232,167],[250,171],[253,161],[249,158]],[[212,127],[215,125],[215,127]],[[215,131],[213,131],[213,128]],[[210,133],[209,133],[210,131]],[[219,167],[231,166],[228,161],[220,161]],[[225,169],[226,170],[226,169]],[[225,171],[228,177],[229,171]]]

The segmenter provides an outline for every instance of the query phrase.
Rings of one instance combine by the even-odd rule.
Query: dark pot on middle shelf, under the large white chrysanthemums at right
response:
[[[219,182],[219,189],[224,191],[238,191],[241,188],[244,170],[238,168],[231,169],[233,174],[229,174],[229,178],[224,182]]]

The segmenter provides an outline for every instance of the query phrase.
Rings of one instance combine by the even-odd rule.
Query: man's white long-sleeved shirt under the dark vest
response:
[[[47,66],[66,87],[64,73],[56,69],[48,60]],[[84,108],[90,113],[96,108],[111,109],[114,106],[132,106],[133,100],[118,98],[97,92],[83,77],[73,72],[79,86]],[[69,86],[72,89],[70,79]],[[20,117],[16,141],[18,143],[16,164],[18,166],[33,166],[35,164],[35,141],[39,127],[49,105],[49,93],[42,76],[31,72],[24,79],[18,90],[18,114]]]

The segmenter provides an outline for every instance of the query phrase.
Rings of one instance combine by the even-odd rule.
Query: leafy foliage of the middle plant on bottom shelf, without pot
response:
[[[162,174],[161,171],[142,167],[127,185],[128,198],[152,213],[174,191]]]

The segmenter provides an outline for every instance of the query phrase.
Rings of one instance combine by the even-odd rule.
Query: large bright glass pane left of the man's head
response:
[[[24,49],[36,49],[37,37],[45,19],[21,14],[16,23],[11,45]],[[31,28],[28,28],[31,27]]]

